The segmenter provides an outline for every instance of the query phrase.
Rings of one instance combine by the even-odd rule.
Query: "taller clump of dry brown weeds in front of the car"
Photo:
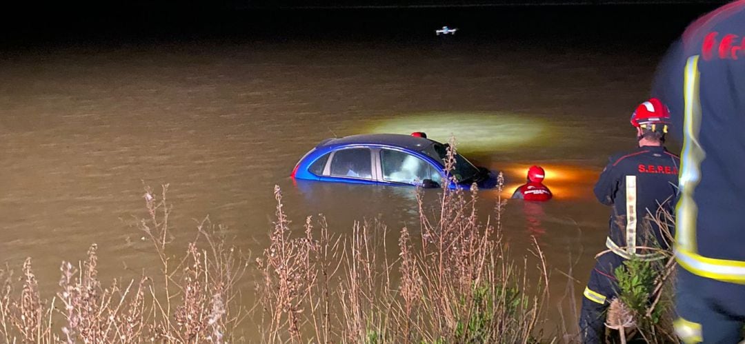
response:
[[[292,229],[276,187],[270,246],[257,259],[262,341],[537,342],[548,299],[539,246],[532,251],[539,281],[529,281],[532,263],[510,259],[502,241],[504,201],[481,223],[475,186],[440,192],[431,213],[419,194],[419,228],[403,227],[397,247],[388,247],[389,231],[377,221],[355,223],[348,236],[329,235],[323,217]]]

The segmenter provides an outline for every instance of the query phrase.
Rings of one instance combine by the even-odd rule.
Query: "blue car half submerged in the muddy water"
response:
[[[439,187],[445,176],[447,146],[409,135],[370,134],[327,138],[295,165],[296,179],[361,184],[419,185]],[[478,168],[456,154],[451,188],[496,185],[494,173]]]

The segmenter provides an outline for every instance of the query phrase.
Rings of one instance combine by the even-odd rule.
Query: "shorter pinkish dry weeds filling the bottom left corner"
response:
[[[17,278],[3,270],[0,338],[5,343],[226,343],[244,318],[235,288],[247,269],[241,252],[228,246],[221,228],[206,218],[186,254],[169,255],[168,185],[154,195],[146,188],[148,217],[137,227],[153,244],[159,274],[104,287],[98,279],[97,246],[86,261],[60,267],[60,289],[42,299],[31,258]]]

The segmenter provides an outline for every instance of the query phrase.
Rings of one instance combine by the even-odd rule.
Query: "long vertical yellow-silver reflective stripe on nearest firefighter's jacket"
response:
[[[676,244],[689,252],[696,252],[696,220],[698,207],[694,201],[694,189],[701,176],[701,162],[706,153],[699,142],[701,127],[701,104],[699,98],[699,57],[688,58],[683,83],[683,150],[680,157],[679,191],[676,206]]]

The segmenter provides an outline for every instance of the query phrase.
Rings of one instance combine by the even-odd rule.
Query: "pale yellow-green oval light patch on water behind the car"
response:
[[[427,112],[375,121],[369,133],[415,131],[440,142],[455,136],[460,150],[482,153],[513,150],[534,141],[544,133],[545,125],[530,115],[508,112]]]

